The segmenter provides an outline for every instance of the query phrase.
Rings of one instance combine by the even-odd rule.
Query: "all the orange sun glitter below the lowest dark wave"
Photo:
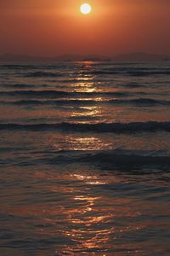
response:
[[[81,181],[84,186],[73,193],[73,204],[76,207],[67,210],[66,222],[69,228],[62,230],[63,236],[71,240],[72,246],[65,246],[56,253],[82,255],[83,252],[85,255],[110,255],[108,252],[111,247],[114,247],[113,241],[118,238],[117,234],[133,229],[133,227],[122,228],[122,225],[118,227],[116,224],[118,215],[120,214],[119,218],[123,216],[133,218],[139,213],[133,212],[130,207],[123,207],[128,205],[128,200],[116,200],[114,206],[105,195],[91,195],[89,186],[105,185],[108,183],[107,179],[82,173],[71,174],[70,177],[72,180]]]

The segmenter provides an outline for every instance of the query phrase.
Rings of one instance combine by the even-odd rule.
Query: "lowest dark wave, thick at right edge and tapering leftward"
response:
[[[80,161],[97,163],[101,166],[126,166],[127,165],[141,166],[141,165],[170,165],[170,157],[164,155],[157,155],[156,151],[144,150],[135,152],[133,150],[112,149],[103,151],[60,151],[58,156],[48,160],[50,164],[57,164],[59,161],[65,160],[65,163]],[[131,169],[130,169],[131,171]],[[146,171],[147,172],[147,171]]]

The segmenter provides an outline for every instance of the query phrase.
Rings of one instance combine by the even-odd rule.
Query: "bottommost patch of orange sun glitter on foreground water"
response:
[[[74,209],[68,215],[68,222],[72,226],[70,231],[63,231],[64,236],[70,237],[77,247],[67,248],[67,253],[90,250],[99,250],[105,247],[109,241],[109,236],[114,232],[114,228],[107,229],[105,224],[113,218],[110,212],[96,212],[95,205],[100,201],[99,197],[77,195],[74,197],[77,205],[82,207]],[[104,249],[106,250],[106,249]]]

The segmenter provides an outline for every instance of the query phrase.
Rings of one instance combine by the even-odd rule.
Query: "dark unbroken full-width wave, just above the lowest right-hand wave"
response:
[[[73,132],[115,132],[132,133],[139,131],[170,131],[170,122],[134,122],[134,123],[41,123],[41,124],[13,124],[2,123],[0,130],[28,130],[28,131],[73,131]]]

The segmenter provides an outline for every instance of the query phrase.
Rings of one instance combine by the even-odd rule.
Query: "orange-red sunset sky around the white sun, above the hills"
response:
[[[0,0],[0,54],[170,55],[169,24],[170,0]]]

